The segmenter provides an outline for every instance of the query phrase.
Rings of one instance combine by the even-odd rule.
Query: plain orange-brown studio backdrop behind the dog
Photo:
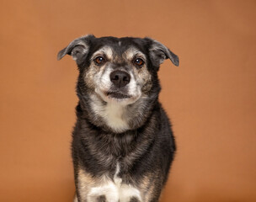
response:
[[[178,152],[162,202],[256,201],[255,1],[1,1],[0,201],[72,201],[77,69],[88,33],[150,36]]]

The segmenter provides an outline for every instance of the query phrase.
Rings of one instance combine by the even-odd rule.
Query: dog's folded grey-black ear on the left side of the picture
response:
[[[95,38],[93,35],[86,35],[73,40],[66,48],[59,51],[57,60],[61,60],[62,57],[67,55],[72,56],[74,61],[82,61],[83,56],[86,56],[89,50],[90,40]]]

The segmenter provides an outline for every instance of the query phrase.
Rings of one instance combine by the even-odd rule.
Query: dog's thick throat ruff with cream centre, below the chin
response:
[[[147,121],[157,98],[141,97],[134,104],[104,102],[95,94],[79,96],[83,117],[90,123],[114,133],[135,130]]]

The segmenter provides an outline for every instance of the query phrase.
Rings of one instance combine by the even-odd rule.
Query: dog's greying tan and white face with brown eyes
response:
[[[107,103],[133,104],[152,85],[147,56],[122,41],[108,42],[89,56],[84,82]]]

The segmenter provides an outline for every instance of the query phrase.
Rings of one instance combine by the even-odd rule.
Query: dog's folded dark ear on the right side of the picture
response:
[[[152,40],[150,38],[146,39],[152,42],[149,46],[149,55],[154,66],[159,67],[166,59],[170,59],[173,62],[173,65],[179,66],[179,57],[171,50],[168,50],[165,45],[161,44],[157,40]]]

